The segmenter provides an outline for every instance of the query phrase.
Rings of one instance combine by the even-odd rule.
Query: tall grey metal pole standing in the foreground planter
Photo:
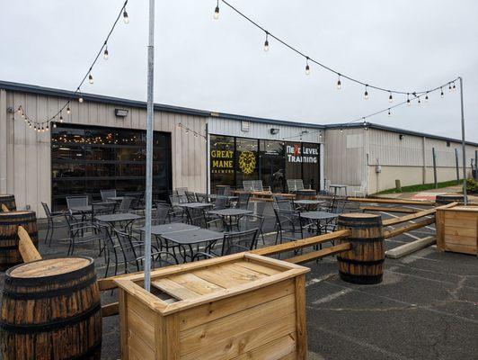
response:
[[[145,213],[145,289],[151,283],[151,208],[153,188],[153,121],[155,77],[155,0],[149,0],[149,43],[147,46],[147,109],[146,109],[146,213]]]

